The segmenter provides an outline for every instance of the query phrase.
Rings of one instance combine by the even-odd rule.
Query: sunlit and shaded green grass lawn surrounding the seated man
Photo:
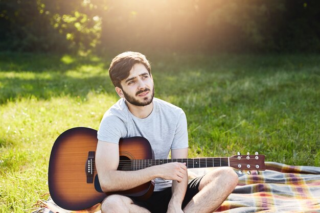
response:
[[[113,56],[113,55],[112,55]],[[185,110],[189,157],[265,154],[320,166],[319,55],[147,54],[156,97]],[[51,147],[118,100],[111,56],[0,53],[0,212],[48,192]]]

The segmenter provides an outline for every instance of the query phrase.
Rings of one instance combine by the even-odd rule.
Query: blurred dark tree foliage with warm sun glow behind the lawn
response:
[[[0,50],[319,52],[317,0],[0,1]]]

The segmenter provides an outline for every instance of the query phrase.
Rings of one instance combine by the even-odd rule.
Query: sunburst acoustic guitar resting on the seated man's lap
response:
[[[101,190],[95,168],[97,130],[76,127],[56,139],[49,161],[49,192],[53,201],[68,210],[81,210],[101,202],[108,194]],[[106,153],[107,154],[107,153]],[[119,141],[118,170],[141,170],[169,162],[186,163],[187,168],[233,167],[241,170],[265,170],[264,155],[232,157],[152,159],[152,149],[144,137]],[[147,199],[153,192],[153,181],[117,194]]]

